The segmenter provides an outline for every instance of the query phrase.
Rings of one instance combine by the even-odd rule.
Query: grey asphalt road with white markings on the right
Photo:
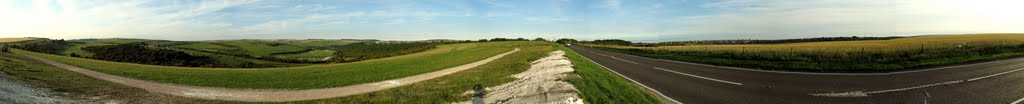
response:
[[[687,104],[1015,104],[1024,100],[1024,58],[844,74],[764,71],[570,49],[663,97]]]

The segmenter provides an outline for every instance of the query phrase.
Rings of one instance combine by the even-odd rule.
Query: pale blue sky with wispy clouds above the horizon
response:
[[[0,0],[0,37],[683,41],[1024,33],[1024,0]]]

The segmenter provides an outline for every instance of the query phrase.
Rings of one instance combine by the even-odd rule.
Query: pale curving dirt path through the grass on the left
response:
[[[108,74],[103,72],[93,71],[89,69],[80,68],[77,66],[55,62],[44,58],[39,58],[32,55],[25,55],[23,53],[18,54],[28,56],[32,59],[36,59],[53,66],[82,73],[91,77],[113,82],[128,87],[139,88],[146,90],[148,92],[163,93],[163,94],[188,97],[188,98],[208,99],[208,100],[246,101],[246,102],[288,102],[288,101],[302,101],[302,100],[344,97],[344,96],[351,96],[356,94],[364,94],[364,93],[376,92],[395,87],[406,86],[409,84],[440,77],[443,75],[476,67],[484,63],[490,62],[495,59],[504,57],[505,55],[515,53],[517,51],[519,51],[518,48],[476,62],[456,67],[451,67],[442,70],[437,70],[412,76],[406,76],[401,79],[346,86],[346,87],[338,87],[338,88],[310,89],[310,90],[247,90],[247,89],[226,89],[226,88],[194,87],[194,86],[163,84],[163,83],[155,83],[150,81],[135,80],[135,79]]]

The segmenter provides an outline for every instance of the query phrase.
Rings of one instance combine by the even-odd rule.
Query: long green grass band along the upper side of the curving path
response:
[[[454,67],[500,53],[527,42],[490,42],[442,45],[396,57],[351,63],[283,68],[196,68],[121,63],[19,51],[50,60],[121,76],[188,86],[248,89],[316,89],[343,87],[409,76]],[[297,82],[301,81],[301,82]]]

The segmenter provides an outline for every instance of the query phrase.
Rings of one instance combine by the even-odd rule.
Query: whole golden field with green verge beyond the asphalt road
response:
[[[1024,34],[893,40],[660,47],[587,45],[646,57],[763,69],[892,71],[1024,56]]]

